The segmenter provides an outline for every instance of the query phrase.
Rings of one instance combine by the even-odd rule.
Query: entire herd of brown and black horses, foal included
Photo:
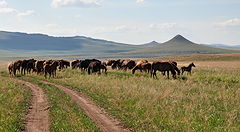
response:
[[[195,67],[194,63],[189,64],[188,66],[183,66],[179,70],[177,67],[177,62],[175,61],[155,61],[148,62],[147,60],[131,60],[131,59],[118,59],[118,60],[97,60],[97,59],[85,59],[77,60],[74,59],[71,62],[67,60],[17,60],[11,62],[8,65],[8,71],[10,76],[16,76],[17,72],[19,74],[25,75],[32,72],[37,73],[38,75],[56,77],[57,70],[66,69],[72,67],[72,69],[81,69],[82,71],[87,71],[88,74],[101,72],[107,73],[107,69],[111,67],[113,70],[131,70],[132,74],[136,70],[140,72],[146,72],[151,74],[151,77],[157,78],[157,71],[162,72],[163,75],[166,75],[169,78],[169,73],[171,72],[172,77],[176,79],[177,75],[183,75],[186,71],[191,74],[192,67]]]

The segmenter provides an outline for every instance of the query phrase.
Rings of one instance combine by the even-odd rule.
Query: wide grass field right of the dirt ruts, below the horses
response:
[[[219,59],[215,59],[218,56]],[[199,59],[204,58],[201,55],[187,59],[170,57],[180,66],[192,61],[197,66],[192,76],[184,75],[176,80],[168,80],[160,74],[159,79],[152,79],[139,72],[132,75],[109,70],[107,75],[87,75],[80,70],[67,69],[49,81],[88,95],[132,131],[237,132],[240,130],[238,56],[205,57],[206,61]],[[169,60],[169,57],[152,60],[159,59]],[[43,76],[28,77],[44,80]],[[61,103],[58,104],[64,107]]]

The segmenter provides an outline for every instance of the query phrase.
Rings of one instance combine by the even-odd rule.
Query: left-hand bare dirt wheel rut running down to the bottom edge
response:
[[[49,132],[49,105],[43,90],[26,81],[16,81],[28,86],[32,91],[32,101],[26,115],[24,132]]]

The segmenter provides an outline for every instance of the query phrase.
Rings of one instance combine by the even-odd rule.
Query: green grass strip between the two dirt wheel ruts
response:
[[[57,87],[41,83],[29,77],[22,79],[42,87],[47,94],[50,107],[50,131],[86,132],[100,131],[91,119],[78,107],[70,96]]]

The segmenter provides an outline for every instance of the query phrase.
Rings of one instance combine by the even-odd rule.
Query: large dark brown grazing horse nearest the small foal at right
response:
[[[173,65],[169,62],[153,62],[152,68],[151,68],[151,77],[157,78],[157,71],[161,72],[167,72],[167,77],[169,79],[169,71],[172,73],[172,77],[176,79],[176,71],[173,67]]]

